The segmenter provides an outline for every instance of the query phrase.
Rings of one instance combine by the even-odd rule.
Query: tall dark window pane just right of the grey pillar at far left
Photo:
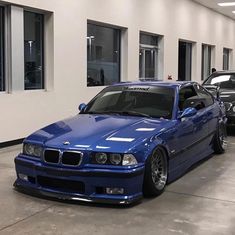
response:
[[[43,15],[25,11],[25,90],[44,88],[43,36]]]

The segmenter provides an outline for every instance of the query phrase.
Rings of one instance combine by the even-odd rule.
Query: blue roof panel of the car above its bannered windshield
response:
[[[172,82],[165,82],[165,81],[131,81],[131,82],[120,82],[113,84],[112,86],[161,86],[161,87],[170,87],[170,88],[181,88],[187,85],[198,84],[194,81],[172,81]]]

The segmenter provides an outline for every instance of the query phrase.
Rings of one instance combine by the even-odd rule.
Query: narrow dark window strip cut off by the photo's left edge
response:
[[[4,77],[4,8],[0,7],[0,91],[5,91]]]

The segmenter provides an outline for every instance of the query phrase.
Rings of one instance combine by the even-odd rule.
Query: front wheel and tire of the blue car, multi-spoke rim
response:
[[[164,191],[168,175],[167,164],[165,151],[156,148],[146,161],[143,184],[144,196],[158,196]]]

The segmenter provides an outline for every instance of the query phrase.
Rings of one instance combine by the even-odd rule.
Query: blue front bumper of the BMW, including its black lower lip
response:
[[[48,166],[19,155],[15,158],[15,167],[17,179],[14,186],[25,193],[112,204],[131,204],[142,198],[143,165],[122,170],[71,169]],[[107,194],[105,188],[123,188],[124,193]]]

